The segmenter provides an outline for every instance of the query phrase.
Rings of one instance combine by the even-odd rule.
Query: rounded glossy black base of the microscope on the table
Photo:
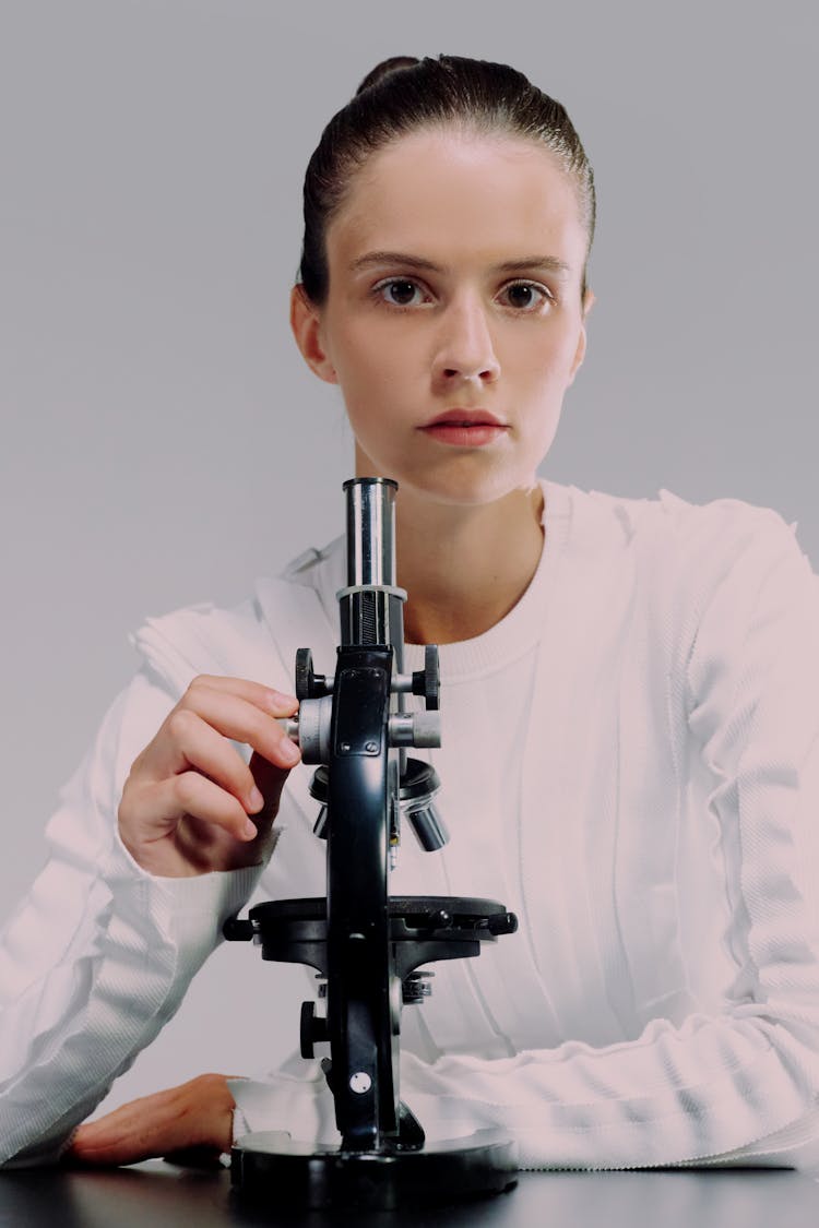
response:
[[[517,1149],[496,1130],[421,1151],[352,1152],[290,1141],[279,1132],[244,1135],[233,1147],[231,1183],[242,1197],[271,1206],[393,1211],[446,1205],[517,1184]]]

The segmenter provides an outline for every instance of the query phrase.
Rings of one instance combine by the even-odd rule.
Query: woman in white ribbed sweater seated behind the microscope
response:
[[[815,577],[771,511],[537,479],[593,303],[569,118],[500,65],[388,61],[328,125],[305,217],[293,334],[341,388],[356,472],[399,481],[408,667],[441,645],[452,842],[405,841],[393,890],[490,895],[522,921],[405,1013],[404,1098],[430,1135],[502,1125],[524,1167],[815,1162]],[[279,718],[293,647],[330,659],[340,582],[335,543],[237,610],[138,636],[145,669],[10,927],[17,1163],[56,1156],[171,1017],[279,833],[265,890],[320,894]],[[305,1068],[204,1076],[70,1152],[227,1149],[235,1102],[239,1131],[324,1137]]]

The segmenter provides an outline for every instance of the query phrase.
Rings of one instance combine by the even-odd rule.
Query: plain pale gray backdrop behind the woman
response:
[[[598,302],[543,472],[772,506],[819,559],[814,10],[0,0],[4,914],[128,632],[340,530],[350,432],[287,291],[307,158],[386,55],[513,63],[596,168]],[[301,975],[222,947],[108,1105],[273,1065]]]

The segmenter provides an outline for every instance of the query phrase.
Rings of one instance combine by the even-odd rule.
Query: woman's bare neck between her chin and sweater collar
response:
[[[518,603],[543,550],[543,492],[453,507],[397,500],[398,583],[408,643],[454,643],[489,631]]]

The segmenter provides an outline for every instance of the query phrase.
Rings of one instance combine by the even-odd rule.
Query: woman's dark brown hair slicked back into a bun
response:
[[[588,235],[588,260],[594,237],[594,177],[566,109],[506,64],[458,55],[422,60],[395,55],[376,65],[355,97],[333,115],[307,166],[300,281],[313,303],[320,306],[327,298],[327,227],[356,171],[398,136],[419,128],[452,125],[522,136],[550,150],[575,182]]]

